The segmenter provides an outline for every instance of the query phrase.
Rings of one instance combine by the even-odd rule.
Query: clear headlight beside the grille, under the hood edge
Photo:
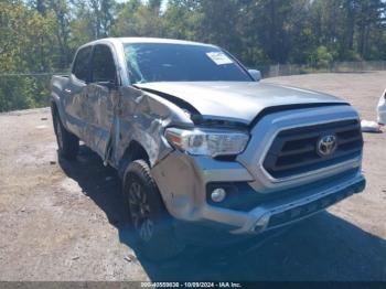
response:
[[[165,137],[173,147],[190,154],[211,157],[240,153],[249,139],[247,133],[232,130],[179,128],[168,128]]]

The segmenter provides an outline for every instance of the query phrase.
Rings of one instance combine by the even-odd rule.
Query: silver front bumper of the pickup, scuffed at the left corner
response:
[[[207,202],[208,183],[251,182],[249,172],[237,162],[223,162],[208,158],[192,158],[174,151],[152,169],[168,211],[178,220],[206,223],[233,234],[257,234],[300,221],[339,201],[364,190],[365,179],[360,168],[332,178],[275,193],[258,193],[251,186],[238,191],[244,197],[250,191],[256,196],[274,196],[257,200],[256,205],[234,210]],[[247,192],[248,191],[248,192]]]

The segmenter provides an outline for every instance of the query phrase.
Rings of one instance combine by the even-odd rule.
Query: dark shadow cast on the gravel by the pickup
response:
[[[174,259],[149,261],[136,248],[116,171],[84,146],[76,162],[60,164],[105,212],[152,281],[386,280],[386,242],[326,212],[265,242],[189,247]]]

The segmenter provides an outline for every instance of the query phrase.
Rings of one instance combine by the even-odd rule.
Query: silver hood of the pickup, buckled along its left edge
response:
[[[345,103],[331,95],[261,82],[160,82],[136,86],[180,98],[205,118],[245,124],[268,107]]]

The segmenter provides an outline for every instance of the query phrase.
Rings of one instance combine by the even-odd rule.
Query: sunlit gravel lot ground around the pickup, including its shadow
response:
[[[375,119],[386,73],[267,82],[332,93]],[[86,148],[58,161],[47,109],[0,115],[0,280],[386,280],[386,133],[365,135],[368,186],[329,212],[228,250],[136,257],[119,180]],[[256,239],[256,244],[260,244]]]

